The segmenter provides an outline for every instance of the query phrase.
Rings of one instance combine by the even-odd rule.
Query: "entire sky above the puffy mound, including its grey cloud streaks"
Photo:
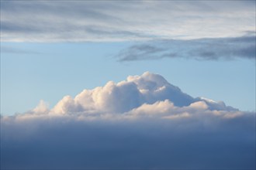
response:
[[[255,110],[254,4],[2,2],[1,114],[145,71]]]

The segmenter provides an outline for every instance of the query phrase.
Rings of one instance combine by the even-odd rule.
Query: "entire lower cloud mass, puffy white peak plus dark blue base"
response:
[[[1,168],[255,166],[254,113],[148,72],[2,116],[1,132]]]

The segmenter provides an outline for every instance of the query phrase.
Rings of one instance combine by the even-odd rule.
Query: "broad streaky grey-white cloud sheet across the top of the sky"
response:
[[[199,39],[254,32],[255,2],[1,3],[3,42]]]

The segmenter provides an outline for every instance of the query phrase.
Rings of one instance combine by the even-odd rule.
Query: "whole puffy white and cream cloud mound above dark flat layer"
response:
[[[119,83],[109,81],[104,87],[83,90],[74,98],[63,97],[52,109],[43,100],[33,110],[19,117],[71,116],[89,118],[140,118],[189,117],[195,113],[207,112],[223,117],[229,114],[240,115],[239,110],[226,106],[223,101],[205,97],[191,97],[178,87],[168,83],[163,76],[143,73],[141,76],[128,76]]]

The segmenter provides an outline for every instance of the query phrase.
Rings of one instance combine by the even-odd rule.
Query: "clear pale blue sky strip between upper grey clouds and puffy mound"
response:
[[[133,42],[2,42],[1,113],[32,109],[40,100],[51,107],[64,95],[119,82],[145,71],[159,73],[193,97],[223,100],[240,110],[255,107],[253,59],[144,59],[119,62],[116,55]]]

